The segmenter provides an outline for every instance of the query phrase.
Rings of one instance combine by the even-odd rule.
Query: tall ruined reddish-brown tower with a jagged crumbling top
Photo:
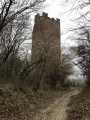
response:
[[[38,76],[42,74],[41,77],[38,78],[39,80],[42,79],[40,82],[47,81],[46,83],[48,83],[50,79],[49,69],[54,69],[53,65],[56,61],[60,63],[60,41],[60,20],[49,18],[46,13],[43,13],[42,16],[37,14],[35,16],[35,24],[32,33],[31,61],[37,62],[41,60],[40,67],[38,67],[39,70],[34,71],[39,71]],[[40,71],[43,71],[43,73]]]

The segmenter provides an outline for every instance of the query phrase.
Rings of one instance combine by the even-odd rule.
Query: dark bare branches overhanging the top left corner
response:
[[[44,0],[4,0],[1,1],[0,13],[0,33],[3,28],[13,21],[17,16],[37,11]]]

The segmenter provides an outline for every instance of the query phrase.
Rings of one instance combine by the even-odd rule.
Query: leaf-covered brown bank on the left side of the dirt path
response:
[[[44,107],[56,97],[67,91],[38,91],[22,88],[10,84],[0,85],[0,120],[25,120],[35,110]]]

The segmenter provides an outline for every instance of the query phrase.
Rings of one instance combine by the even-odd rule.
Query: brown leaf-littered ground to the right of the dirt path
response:
[[[90,120],[90,88],[71,98],[68,120]]]

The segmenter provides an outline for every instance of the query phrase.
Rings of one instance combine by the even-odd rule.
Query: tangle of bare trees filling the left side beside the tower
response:
[[[5,80],[9,82],[12,77],[17,76],[20,82],[19,78],[23,71],[27,71],[31,66],[33,68],[33,65],[37,66],[40,61],[27,65],[25,61],[20,60],[18,54],[22,43],[31,39],[30,17],[41,8],[44,0],[3,0],[0,2],[0,71],[2,71],[0,77],[2,77],[1,81],[7,78]]]

